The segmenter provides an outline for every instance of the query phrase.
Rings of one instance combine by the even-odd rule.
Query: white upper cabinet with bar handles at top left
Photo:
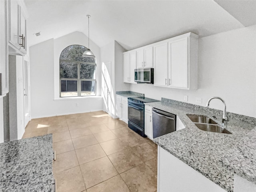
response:
[[[23,0],[8,0],[9,54],[26,55],[27,11]]]

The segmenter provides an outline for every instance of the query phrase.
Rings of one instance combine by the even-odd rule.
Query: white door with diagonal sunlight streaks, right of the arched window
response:
[[[111,115],[112,109],[112,84],[111,84],[111,62],[102,62],[102,91],[106,112]]]

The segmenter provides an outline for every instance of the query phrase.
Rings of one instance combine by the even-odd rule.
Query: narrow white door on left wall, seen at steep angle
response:
[[[23,93],[24,93],[24,127],[30,120],[30,86],[29,86],[29,64],[28,58],[23,57]]]

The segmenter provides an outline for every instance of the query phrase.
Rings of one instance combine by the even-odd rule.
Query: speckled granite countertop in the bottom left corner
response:
[[[52,134],[0,144],[1,192],[52,192]]]

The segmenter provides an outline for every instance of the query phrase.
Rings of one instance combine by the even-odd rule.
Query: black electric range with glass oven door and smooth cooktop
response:
[[[128,127],[142,137],[146,137],[144,131],[144,103],[157,101],[159,100],[146,97],[128,98]]]

